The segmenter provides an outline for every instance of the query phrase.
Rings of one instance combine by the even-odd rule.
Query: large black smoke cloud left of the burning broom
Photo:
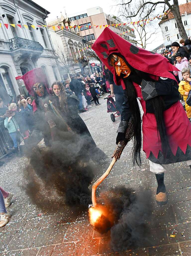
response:
[[[41,209],[58,209],[58,196],[70,206],[86,207],[91,203],[93,166],[84,150],[83,140],[75,140],[70,132],[62,132],[62,141],[40,150],[34,147],[29,155],[30,165],[24,170],[25,190]],[[84,164],[84,163],[87,163]],[[87,166],[86,166],[87,165]]]

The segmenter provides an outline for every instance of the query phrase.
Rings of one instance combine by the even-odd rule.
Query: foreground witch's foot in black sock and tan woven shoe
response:
[[[164,184],[164,173],[155,175],[158,183],[155,199],[158,204],[163,205],[167,202],[166,187]]]

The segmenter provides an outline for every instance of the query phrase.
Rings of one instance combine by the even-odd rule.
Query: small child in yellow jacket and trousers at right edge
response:
[[[179,83],[179,92],[183,95],[184,101],[186,103],[186,99],[188,97],[188,93],[191,90],[191,79],[190,79],[190,70],[189,68],[183,68],[182,69],[182,76],[183,79]],[[186,108],[186,114],[187,117],[190,119],[191,118],[191,106],[188,106],[188,104],[185,104]]]

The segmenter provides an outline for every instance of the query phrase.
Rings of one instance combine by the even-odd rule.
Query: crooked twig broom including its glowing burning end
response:
[[[112,162],[110,166],[107,168],[106,172],[98,179],[96,182],[94,182],[92,186],[92,205],[89,205],[89,216],[90,216],[90,224],[95,226],[96,223],[100,222],[101,219],[103,219],[103,215],[107,216],[107,209],[104,206],[97,205],[96,202],[96,189],[97,187],[103,182],[103,180],[110,174],[114,164],[117,162],[117,160],[120,158],[122,151],[124,150],[127,143],[132,139],[133,137],[133,123],[132,120],[129,121],[128,129],[126,131],[126,140],[125,141],[119,141],[117,144],[117,147],[112,155]],[[107,217],[104,218],[105,220]],[[104,222],[105,222],[104,220]],[[103,221],[101,221],[103,222]],[[101,229],[101,224],[98,225]]]

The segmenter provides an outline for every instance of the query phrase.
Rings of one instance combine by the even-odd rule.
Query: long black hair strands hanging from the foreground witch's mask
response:
[[[133,68],[127,60],[120,55],[119,53],[113,53],[119,57],[121,57],[127,64],[127,66],[131,70],[130,76],[124,79],[125,83],[125,96],[128,98],[129,107],[131,111],[131,119],[132,119],[132,129],[133,129],[133,154],[132,154],[132,161],[133,164],[135,162],[140,166],[141,165],[141,113],[139,104],[137,101],[137,92],[135,90],[135,87],[133,86],[133,82],[139,83],[142,81],[142,79],[146,81],[154,81],[149,77],[148,73],[145,73],[143,71],[137,70]],[[108,64],[111,66],[111,60],[112,60],[112,54],[108,57]],[[150,104],[153,107],[153,112],[156,118],[157,122],[157,131],[158,135],[160,136],[161,145],[162,145],[162,153],[164,157],[167,155],[167,152],[169,150],[169,143],[168,143],[168,137],[165,127],[165,122],[163,118],[163,111],[165,110],[165,103],[162,98],[162,96],[157,96],[152,98],[150,101]]]

